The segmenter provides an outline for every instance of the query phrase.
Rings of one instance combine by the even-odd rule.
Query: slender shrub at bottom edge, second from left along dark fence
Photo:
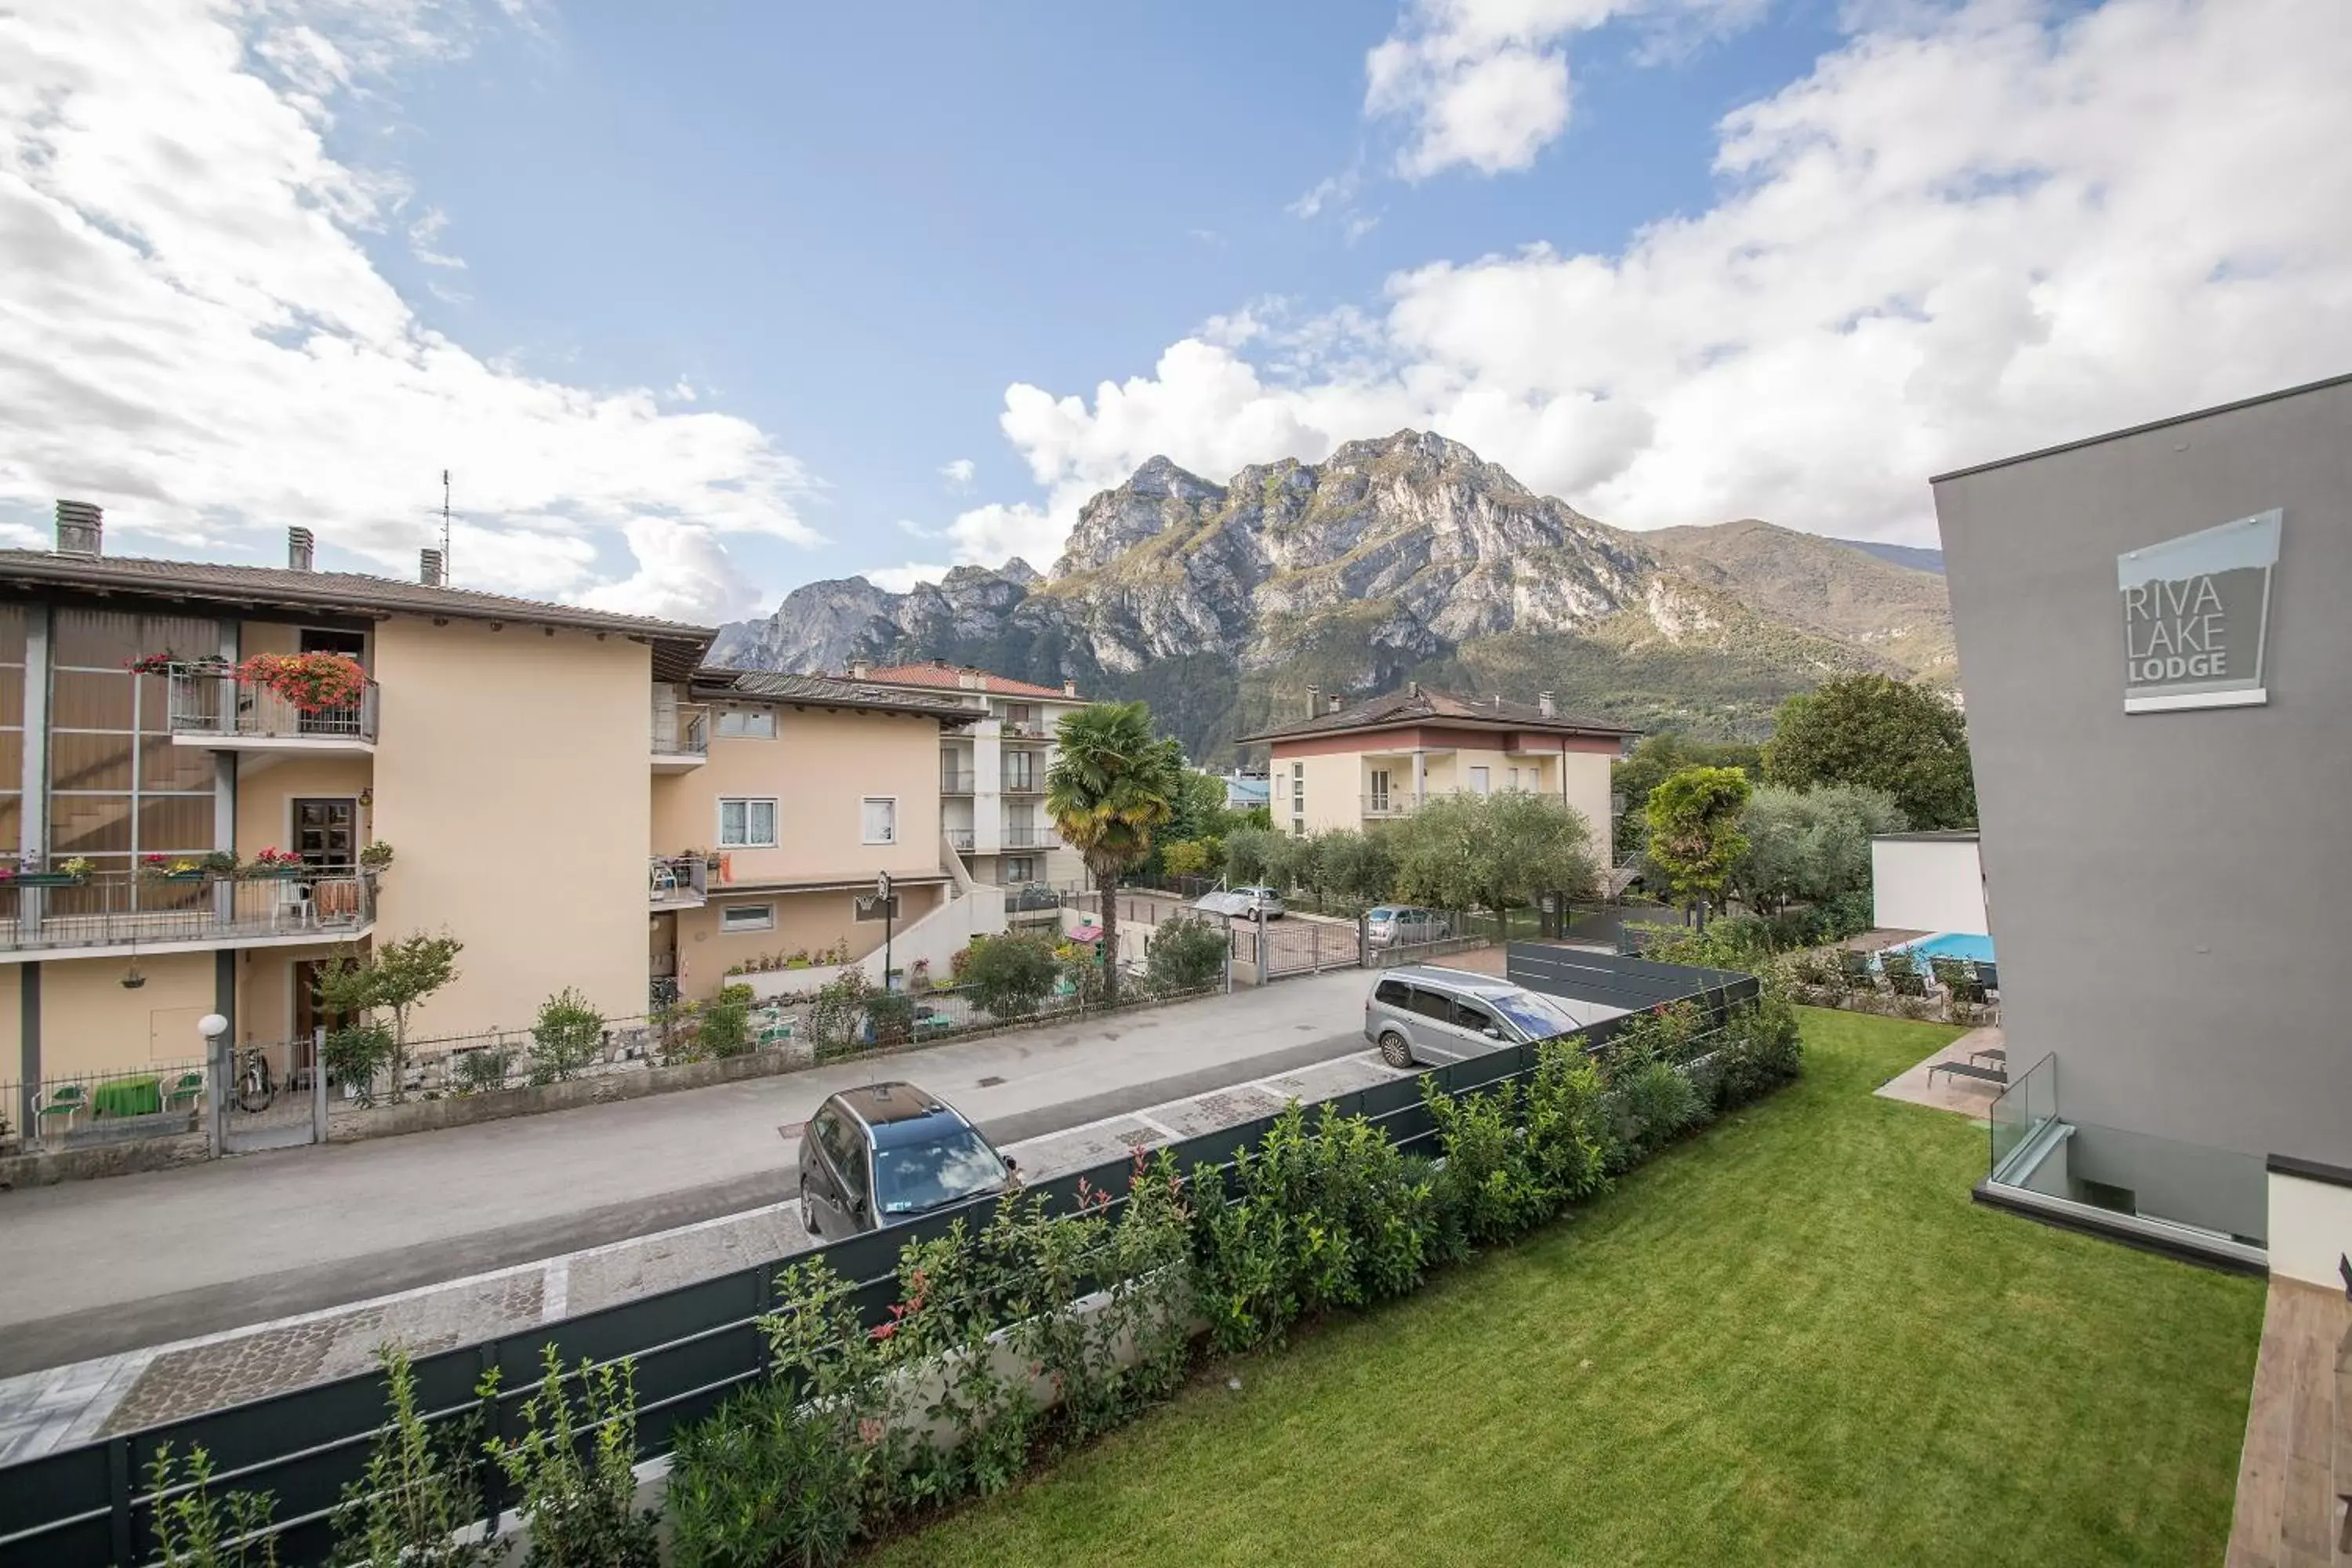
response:
[[[487,1542],[459,1540],[468,1523],[482,1519],[482,1490],[475,1481],[477,1422],[461,1420],[433,1432],[416,1408],[409,1354],[388,1342],[376,1361],[383,1366],[393,1418],[376,1432],[367,1469],[343,1488],[334,1514],[334,1561],[346,1568],[489,1563]]]

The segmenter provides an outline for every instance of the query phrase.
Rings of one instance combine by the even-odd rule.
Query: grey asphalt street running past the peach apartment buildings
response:
[[[1369,985],[1343,971],[647,1100],[7,1192],[0,1375],[776,1204],[795,1154],[776,1128],[877,1077],[1021,1143],[1284,1072],[1362,1044]]]

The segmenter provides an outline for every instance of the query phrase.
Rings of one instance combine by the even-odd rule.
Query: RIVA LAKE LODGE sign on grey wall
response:
[[[2124,595],[2124,712],[2270,701],[2270,574],[2281,512],[2239,517],[2114,557]]]

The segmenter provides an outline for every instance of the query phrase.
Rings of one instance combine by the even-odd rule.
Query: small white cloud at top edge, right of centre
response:
[[[1644,56],[1670,40],[1724,33],[1757,19],[1766,0],[1414,0],[1397,31],[1364,56],[1364,113],[1399,118],[1409,141],[1397,174],[1428,179],[1468,165],[1524,169],[1569,127],[1566,40],[1623,16],[1651,26]],[[1329,181],[1324,181],[1329,183]],[[1294,207],[1324,205],[1310,190]]]

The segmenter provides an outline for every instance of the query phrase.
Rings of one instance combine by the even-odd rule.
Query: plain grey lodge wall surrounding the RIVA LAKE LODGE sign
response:
[[[2352,386],[1936,484],[2009,1060],[2060,1110],[2352,1164]],[[2114,557],[2284,508],[2270,703],[2124,712]]]

